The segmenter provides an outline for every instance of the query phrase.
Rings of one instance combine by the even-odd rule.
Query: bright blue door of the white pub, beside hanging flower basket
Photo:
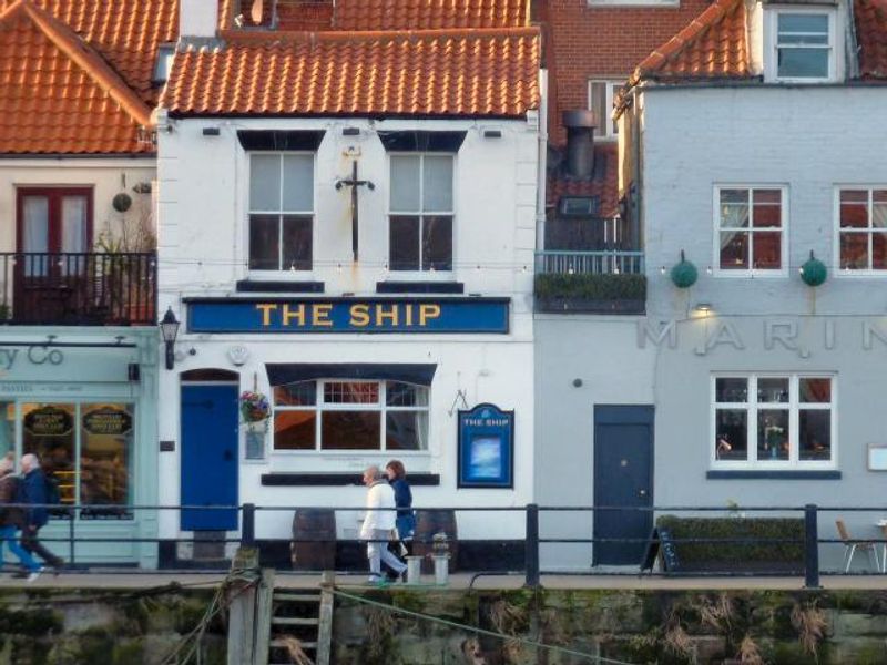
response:
[[[182,505],[237,505],[237,386],[182,385]],[[183,510],[183,531],[233,531],[236,510]]]

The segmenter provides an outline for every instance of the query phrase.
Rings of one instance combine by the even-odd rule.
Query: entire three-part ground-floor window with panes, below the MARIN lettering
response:
[[[713,468],[835,468],[834,375],[731,372],[711,389]]]

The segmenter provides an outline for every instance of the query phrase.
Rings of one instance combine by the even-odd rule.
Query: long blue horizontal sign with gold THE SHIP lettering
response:
[[[508,298],[193,298],[190,332],[508,334]]]

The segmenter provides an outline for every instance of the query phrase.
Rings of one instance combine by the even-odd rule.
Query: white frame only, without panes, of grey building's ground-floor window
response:
[[[718,402],[717,379],[746,379],[747,393],[745,402]],[[759,379],[788,379],[787,402],[758,402],[757,382]],[[801,379],[829,379],[832,401],[801,402]],[[710,387],[710,432],[708,432],[708,464],[712,470],[736,471],[829,471],[838,468],[838,395],[837,374],[832,371],[813,372],[742,372],[724,371],[713,374]],[[717,410],[735,409],[746,412],[746,460],[718,460],[716,453]],[[787,460],[758,460],[757,459],[757,412],[759,410],[787,410],[788,411],[788,459]],[[830,452],[829,460],[801,460],[799,459],[799,422],[801,411],[829,411],[830,418]]]

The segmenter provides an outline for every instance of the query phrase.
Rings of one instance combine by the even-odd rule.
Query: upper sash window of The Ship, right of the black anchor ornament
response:
[[[391,270],[452,269],[452,171],[450,154],[391,155]]]

